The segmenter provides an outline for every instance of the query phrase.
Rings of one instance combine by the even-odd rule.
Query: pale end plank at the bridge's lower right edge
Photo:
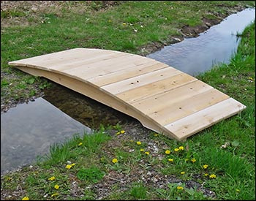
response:
[[[184,140],[192,134],[217,124],[217,122],[225,118],[240,113],[245,108],[246,106],[233,98],[225,99],[192,115],[167,124],[165,128],[175,133],[180,140]]]

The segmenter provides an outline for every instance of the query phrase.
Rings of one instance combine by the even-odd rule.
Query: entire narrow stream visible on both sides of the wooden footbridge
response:
[[[255,9],[230,15],[199,37],[167,46],[148,58],[196,75],[212,64],[228,63],[236,52],[244,27],[255,19]],[[57,94],[57,95],[56,95]],[[50,145],[61,143],[73,134],[90,133],[100,124],[116,125],[135,121],[123,113],[86,96],[54,85],[45,96],[1,113],[1,173],[34,162],[48,153]]]

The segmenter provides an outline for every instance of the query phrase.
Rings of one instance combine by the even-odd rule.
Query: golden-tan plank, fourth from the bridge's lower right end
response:
[[[142,99],[146,99],[150,96],[162,94],[166,91],[172,90],[173,88],[192,83],[195,80],[197,80],[197,78],[187,75],[185,73],[181,73],[172,77],[167,77],[165,80],[159,80],[157,82],[148,83],[147,85],[140,86],[138,88],[132,88],[128,91],[116,94],[116,96],[118,96],[118,98],[124,100],[125,102],[129,102],[129,104],[132,104]]]

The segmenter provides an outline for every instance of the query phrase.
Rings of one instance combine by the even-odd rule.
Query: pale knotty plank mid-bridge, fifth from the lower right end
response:
[[[172,77],[173,75],[181,74],[182,72],[168,67],[165,69],[159,69],[154,72],[148,72],[144,75],[139,75],[137,77],[132,77],[127,80],[122,80],[117,83],[112,83],[107,86],[103,86],[102,89],[110,92],[111,94],[120,94],[121,92],[131,90],[132,88],[138,88],[140,86],[145,86],[148,83],[154,83],[159,80],[165,80],[167,77]]]

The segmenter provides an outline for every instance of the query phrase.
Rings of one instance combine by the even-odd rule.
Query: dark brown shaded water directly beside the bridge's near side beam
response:
[[[118,110],[113,110],[111,107],[60,85],[45,89],[44,93],[44,99],[91,129],[98,129],[100,124],[113,126],[134,121],[133,118]]]

